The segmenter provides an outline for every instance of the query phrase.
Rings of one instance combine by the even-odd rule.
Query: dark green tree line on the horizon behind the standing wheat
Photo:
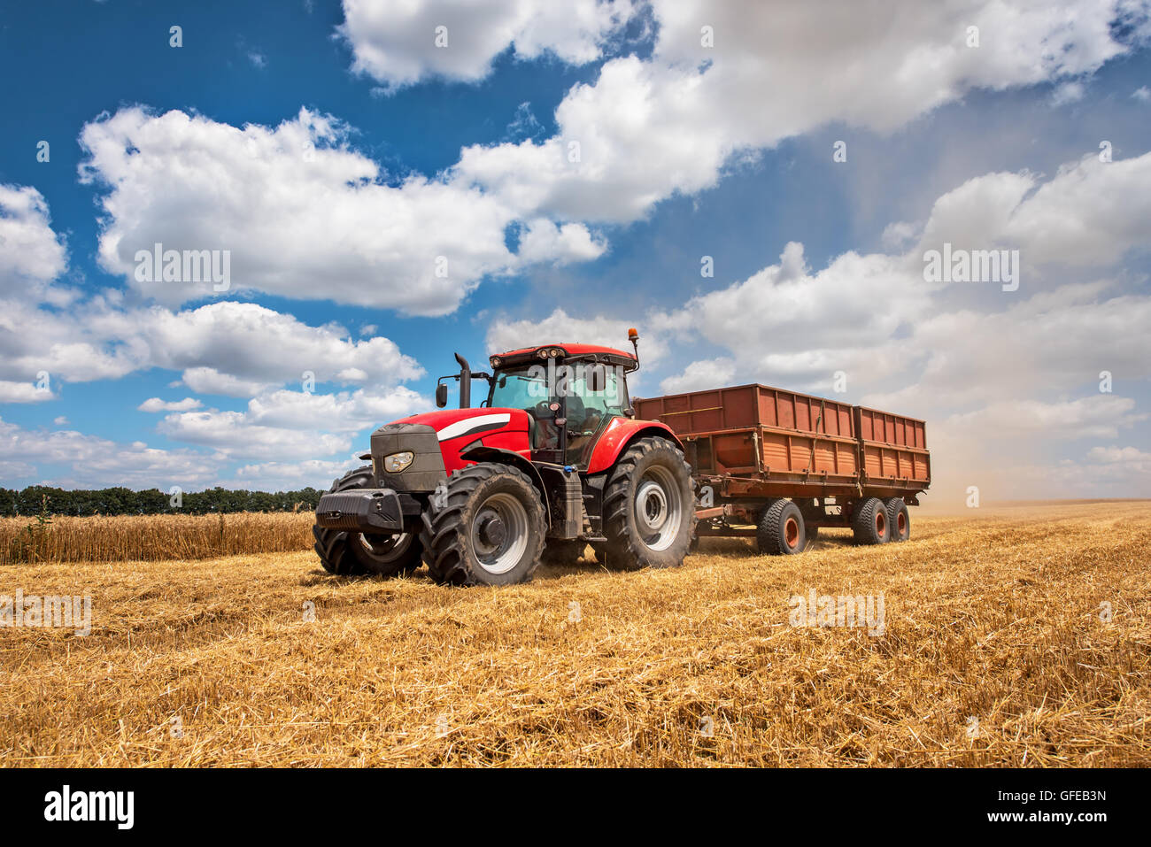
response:
[[[315,488],[297,491],[246,491],[209,488],[184,491],[174,497],[157,488],[134,491],[130,488],[66,490],[29,486],[22,490],[0,488],[0,517],[41,514],[209,514],[222,512],[313,511],[320,501]],[[45,501],[47,497],[47,501]]]

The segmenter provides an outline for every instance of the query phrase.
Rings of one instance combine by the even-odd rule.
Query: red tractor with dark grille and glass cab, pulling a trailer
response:
[[[541,557],[576,562],[590,544],[616,570],[672,567],[687,555],[695,501],[684,445],[635,420],[633,353],[547,344],[490,358],[459,381],[459,409],[402,418],[372,434],[365,465],[337,480],[315,511],[315,551],[331,573],[394,575],[426,563],[452,585],[509,585]],[[488,383],[471,407],[472,380]]]

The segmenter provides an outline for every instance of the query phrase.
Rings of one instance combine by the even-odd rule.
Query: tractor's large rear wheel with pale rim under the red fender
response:
[[[677,567],[695,534],[692,468],[668,438],[640,438],[611,473],[603,495],[607,556],[596,558],[616,571]],[[604,560],[607,559],[607,560]]]

